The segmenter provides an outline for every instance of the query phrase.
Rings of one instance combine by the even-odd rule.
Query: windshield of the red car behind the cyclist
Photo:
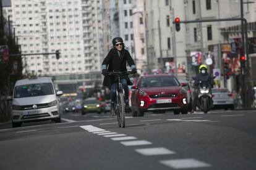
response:
[[[179,86],[179,82],[169,76],[142,79],[141,87],[169,87]]]

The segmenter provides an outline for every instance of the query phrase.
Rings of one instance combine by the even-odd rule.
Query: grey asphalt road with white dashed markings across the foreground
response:
[[[0,126],[0,169],[256,169],[256,110],[62,118]]]

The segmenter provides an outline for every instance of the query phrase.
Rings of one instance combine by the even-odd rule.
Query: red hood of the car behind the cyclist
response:
[[[141,90],[146,92],[147,94],[160,94],[161,92],[165,92],[166,94],[178,93],[181,89],[182,89],[182,87],[180,87],[180,86],[141,88]]]

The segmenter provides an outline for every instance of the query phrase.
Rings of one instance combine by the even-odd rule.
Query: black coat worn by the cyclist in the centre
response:
[[[126,62],[129,64],[130,67],[132,65],[135,65],[134,60],[130,56],[129,51],[127,51],[126,49],[123,49],[121,51],[121,56],[119,57],[117,49],[113,48],[108,52],[108,55],[105,57],[105,59],[102,62],[102,65],[106,65],[108,71],[127,71]],[[123,76],[122,78],[127,79],[128,85],[132,85],[132,82],[130,81],[127,75]],[[116,76],[107,75],[103,80],[103,86],[106,86],[110,89],[111,84],[116,83],[116,81],[117,81]]]

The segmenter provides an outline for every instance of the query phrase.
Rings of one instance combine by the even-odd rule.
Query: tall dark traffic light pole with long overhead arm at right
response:
[[[245,42],[243,44],[243,49],[244,49],[244,54],[245,54],[245,57],[246,57],[246,67],[245,68],[241,68],[243,74],[241,75],[242,77],[244,77],[244,73],[245,73],[245,80],[247,81],[246,83],[245,82],[242,82],[242,97],[244,97],[244,101],[245,102],[245,105],[243,104],[243,107],[247,107],[249,108],[251,106],[251,102],[252,102],[252,97],[251,97],[251,91],[252,91],[252,88],[251,88],[251,85],[250,85],[250,68],[249,68],[249,49],[248,49],[248,34],[247,34],[247,20],[243,17],[241,18],[220,18],[220,19],[205,19],[205,20],[184,20],[184,21],[180,21],[179,23],[202,23],[202,22],[224,22],[224,21],[237,21],[237,20],[241,20],[241,22],[244,22],[244,26],[241,25],[241,29],[244,28],[244,34],[245,34]],[[175,24],[175,20],[173,21],[173,23]],[[241,33],[243,34],[243,33]],[[245,87],[247,86],[247,87]],[[247,95],[245,97],[245,90],[247,90]],[[246,100],[245,100],[246,99]]]

